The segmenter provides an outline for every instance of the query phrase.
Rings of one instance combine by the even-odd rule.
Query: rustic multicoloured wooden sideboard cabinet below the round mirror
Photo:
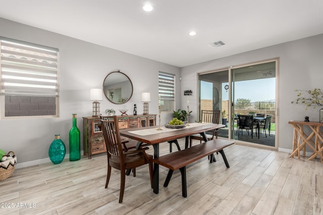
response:
[[[156,124],[156,114],[117,116],[119,129],[148,127]],[[100,117],[83,117],[84,156],[106,152]]]

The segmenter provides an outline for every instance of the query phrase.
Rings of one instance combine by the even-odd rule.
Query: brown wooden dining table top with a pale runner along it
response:
[[[160,133],[155,133],[155,134],[150,134],[150,135],[139,135],[139,134],[131,133],[129,131],[151,129],[151,128],[157,129],[158,126],[128,128],[128,129],[120,130],[120,135],[135,139],[137,141],[145,142],[146,144],[153,145],[153,144],[159,144],[160,142],[170,141],[173,139],[179,139],[179,138],[186,137],[186,136],[189,136],[192,134],[206,132],[209,130],[225,127],[225,125],[222,125],[222,124],[207,124],[207,123],[200,123],[200,124],[201,125],[199,125],[199,126],[194,126],[194,127],[186,126],[185,129],[174,128],[168,132],[160,132]]]

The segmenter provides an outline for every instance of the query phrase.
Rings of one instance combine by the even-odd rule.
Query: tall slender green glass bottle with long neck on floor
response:
[[[70,161],[81,158],[80,130],[76,126],[76,114],[73,113],[73,127],[70,130]]]

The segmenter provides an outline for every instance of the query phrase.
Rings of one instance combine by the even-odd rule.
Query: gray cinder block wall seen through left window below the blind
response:
[[[55,115],[55,97],[5,96],[5,116]]]

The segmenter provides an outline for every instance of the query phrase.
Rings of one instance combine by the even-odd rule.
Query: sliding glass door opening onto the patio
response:
[[[277,64],[269,60],[199,74],[199,112],[221,110],[220,123],[226,127],[219,130],[219,137],[277,147]],[[239,115],[253,116],[252,129],[241,125]]]

